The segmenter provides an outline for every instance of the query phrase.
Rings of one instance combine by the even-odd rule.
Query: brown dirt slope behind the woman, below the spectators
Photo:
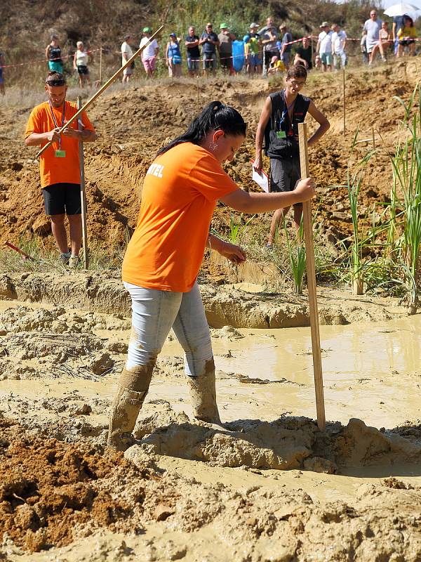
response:
[[[331,128],[325,138],[309,152],[310,170],[319,186],[321,210],[318,220],[341,237],[349,231],[347,197],[343,189],[332,187],[345,181],[349,145],[356,126],[360,138],[371,136],[371,127],[380,131],[378,154],[368,164],[363,185],[363,209],[382,202],[389,195],[392,181],[387,152],[393,150],[396,126],[402,107],[393,96],[408,98],[415,83],[415,62],[387,65],[377,70],[350,70],[347,74],[347,130],[342,134],[342,76],[314,74],[305,93],[328,116]],[[273,89],[273,88],[272,88]],[[199,84],[187,79],[175,83],[138,83],[105,93],[89,111],[99,134],[98,142],[87,145],[86,182],[88,227],[92,238],[120,243],[126,228],[135,226],[142,178],[154,154],[166,139],[180,133],[192,115],[212,99],[238,108],[248,121],[248,136],[235,161],[227,170],[243,188],[254,189],[250,181],[255,133],[262,104],[271,89],[263,79],[246,81],[208,81]],[[69,98],[72,96],[69,95]],[[35,148],[25,148],[22,133],[32,106],[8,105],[0,108],[0,240],[18,240],[25,232],[45,235],[49,231],[43,216],[39,193],[38,162]],[[309,120],[310,131],[314,123]],[[384,144],[383,144],[384,143]],[[359,145],[363,155],[368,146]],[[223,209],[215,214],[215,226],[227,224]],[[326,220],[327,219],[327,220]]]

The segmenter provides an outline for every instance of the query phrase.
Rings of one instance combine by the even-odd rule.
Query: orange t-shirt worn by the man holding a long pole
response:
[[[54,112],[55,122],[62,126],[62,106],[50,107],[48,101],[36,105],[29,115],[25,138],[32,133],[46,133],[55,129],[55,123],[51,110]],[[75,103],[65,102],[65,123],[77,112]],[[85,112],[81,114],[84,129],[95,131]],[[78,128],[77,119],[70,125],[73,129]],[[47,143],[41,143],[41,148]],[[60,150],[65,150],[64,158],[55,157],[58,143],[53,143],[39,157],[39,171],[41,174],[41,188],[53,183],[81,183],[79,167],[79,142],[76,138],[61,136]]]

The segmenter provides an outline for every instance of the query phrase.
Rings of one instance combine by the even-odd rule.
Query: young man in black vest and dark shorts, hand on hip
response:
[[[303,123],[307,112],[319,123],[319,129],[309,138],[314,145],[329,129],[328,119],[319,111],[310,98],[299,92],[305,86],[307,70],[302,65],[290,67],[286,74],[285,88],[269,94],[258,124],[255,138],[255,161],[253,168],[261,173],[262,145],[270,159],[270,192],[293,192],[301,177],[298,124]],[[274,212],[267,247],[272,247],[279,222],[286,216],[290,206]],[[294,204],[295,227],[300,228],[302,204]]]

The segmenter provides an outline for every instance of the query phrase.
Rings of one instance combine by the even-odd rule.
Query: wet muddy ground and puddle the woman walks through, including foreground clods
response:
[[[130,320],[1,301],[0,559],[420,560],[421,316],[388,306],[321,327],[323,433],[308,327],[211,329],[222,426],[193,419],[170,335],[123,457]]]

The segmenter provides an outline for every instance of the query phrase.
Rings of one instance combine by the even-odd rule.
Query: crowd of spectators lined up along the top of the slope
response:
[[[218,29],[215,30],[215,27]],[[190,26],[183,37],[171,32],[167,41],[159,39],[161,45],[156,39],[149,42],[152,28],[144,27],[139,47],[145,46],[141,53],[141,66],[146,76],[154,76],[158,60],[165,61],[169,76],[175,78],[182,75],[183,67],[191,77],[202,73],[215,75],[218,67],[230,75],[237,72],[246,72],[250,77],[271,75],[286,72],[290,65],[297,63],[307,71],[316,68],[331,72],[347,65],[350,41],[359,41],[362,62],[368,65],[373,64],[376,58],[385,62],[392,56],[399,58],[406,53],[417,54],[417,30],[413,19],[406,14],[396,16],[390,29],[389,22],[380,20],[375,9],[370,11],[370,17],[364,22],[361,37],[350,38],[338,23],[324,21],[319,26],[318,37],[294,40],[286,23],[278,26],[270,17],[262,26],[251,22],[243,37],[236,37],[226,22],[215,27],[208,22],[203,32],[196,33],[195,28]],[[134,37],[126,34],[121,44],[121,65],[126,64],[137,48]],[[48,70],[63,72],[64,57],[58,35],[51,36],[45,54]],[[86,49],[82,41],[77,41],[71,58],[79,86],[91,85],[89,65],[93,62],[93,52]],[[135,65],[138,65],[137,61],[123,71],[123,82],[135,75]],[[0,93],[4,93],[5,70],[6,60],[0,50]]]

